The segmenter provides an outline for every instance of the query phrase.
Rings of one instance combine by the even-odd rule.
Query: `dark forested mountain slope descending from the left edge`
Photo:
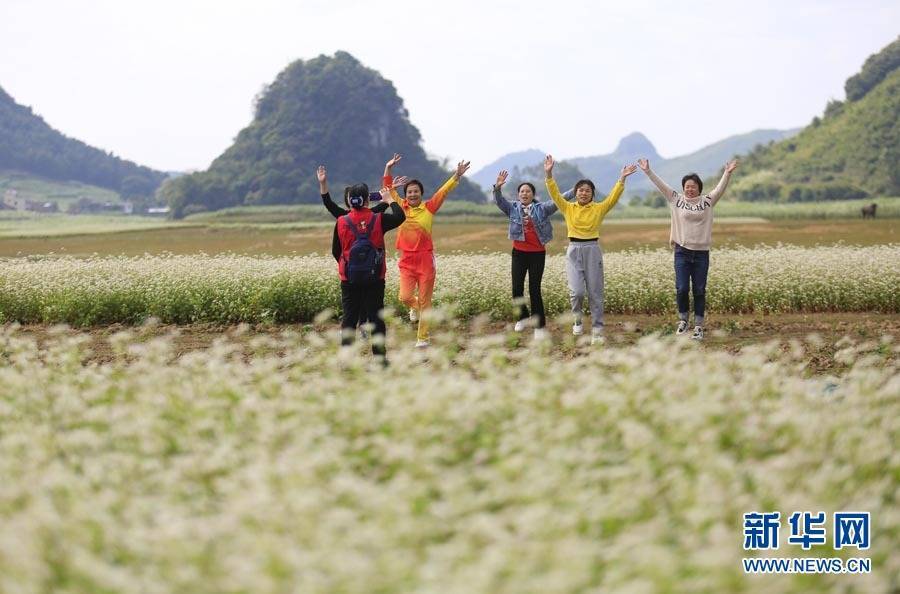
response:
[[[0,88],[0,170],[76,181],[124,197],[151,196],[166,174],[126,161],[51,128]]]

